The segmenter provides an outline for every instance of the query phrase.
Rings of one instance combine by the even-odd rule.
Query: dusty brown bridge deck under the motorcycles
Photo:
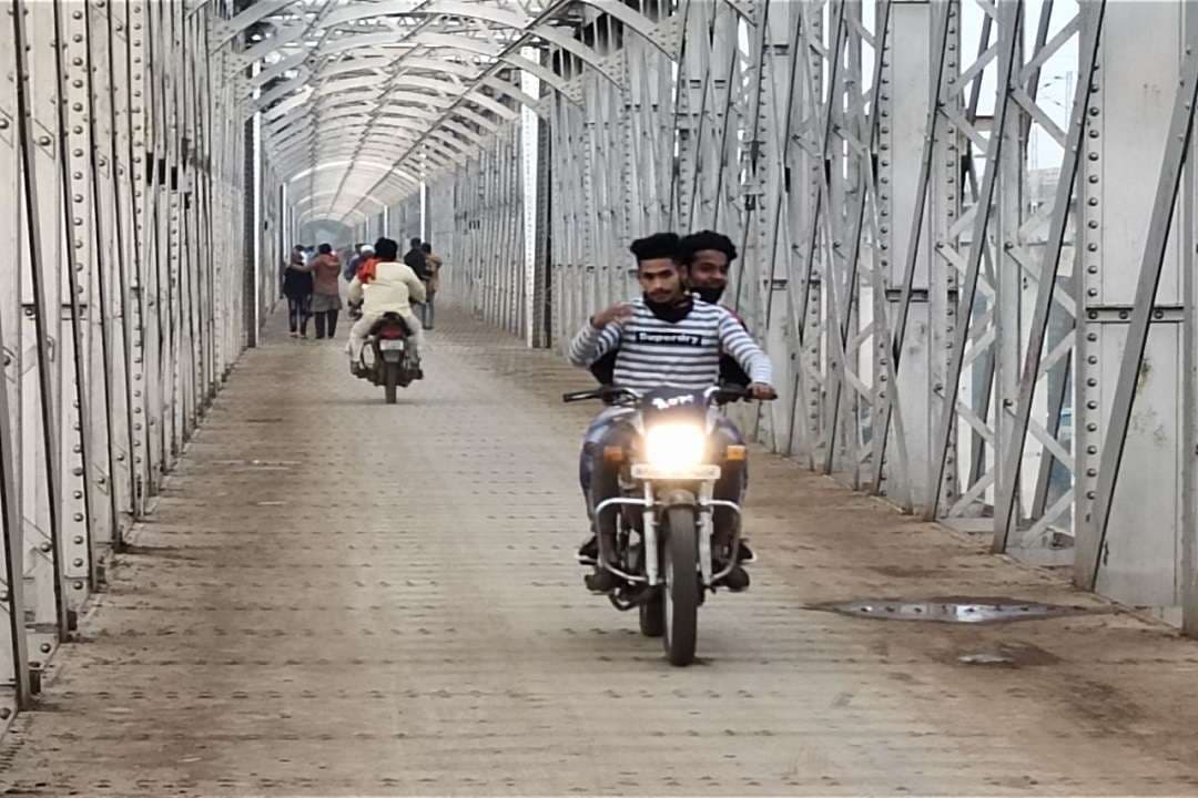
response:
[[[1198,642],[758,451],[755,586],[671,669],[571,564],[586,373],[446,312],[387,407],[280,330],[16,718],[4,794],[1198,791]],[[934,596],[1099,613],[806,608]]]

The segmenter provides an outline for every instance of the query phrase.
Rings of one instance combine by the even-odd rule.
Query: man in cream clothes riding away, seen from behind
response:
[[[350,341],[346,345],[350,372],[355,376],[362,363],[362,347],[367,335],[385,313],[397,313],[407,324],[412,333],[409,337],[412,359],[417,364],[424,345],[424,333],[411,305],[412,301],[424,301],[424,284],[409,266],[395,260],[399,257],[399,244],[393,239],[380,238],[375,242],[374,252],[374,258],[362,264],[350,282],[350,303],[362,303],[362,318],[350,328]],[[424,377],[419,365],[416,367],[416,377]]]

